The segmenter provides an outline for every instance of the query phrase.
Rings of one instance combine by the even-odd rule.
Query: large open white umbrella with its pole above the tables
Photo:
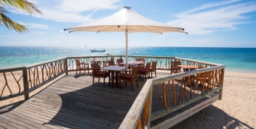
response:
[[[78,27],[66,28],[69,32],[89,31],[89,32],[125,32],[125,57],[126,66],[128,63],[128,33],[134,32],[151,32],[151,33],[166,33],[166,32],[184,32],[183,28],[171,27],[169,24],[147,19],[141,16],[131,7],[125,6],[115,14],[110,15],[92,23],[83,24]]]

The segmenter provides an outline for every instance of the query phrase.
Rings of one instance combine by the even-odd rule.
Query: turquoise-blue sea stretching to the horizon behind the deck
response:
[[[0,69],[33,65],[67,56],[106,54],[125,55],[125,48],[105,48],[105,52],[92,53],[89,48],[0,46]],[[256,72],[256,48],[130,47],[128,55],[190,58],[225,65],[226,71]]]

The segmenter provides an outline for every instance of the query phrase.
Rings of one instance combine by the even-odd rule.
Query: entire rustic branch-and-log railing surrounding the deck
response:
[[[125,61],[125,55],[67,57],[43,62],[37,65],[0,69],[0,101],[22,95],[24,95],[25,99],[28,99],[29,93],[36,90],[38,87],[43,86],[45,83],[50,82],[50,80],[53,80],[56,77],[60,77],[62,74],[68,74],[69,71],[76,71],[76,58],[79,58],[79,61],[81,62],[90,63],[93,60],[108,61],[112,57],[115,61],[118,58],[123,58]],[[182,65],[196,65],[206,68],[147,80],[119,128],[148,128],[150,127],[151,121],[176,111],[192,102],[196,102],[204,96],[214,92],[219,92],[219,99],[222,99],[225,65],[186,58],[152,56],[129,56],[128,61],[134,61],[136,58],[144,58],[146,62],[157,61],[158,70],[170,70],[171,61],[180,61]],[[103,63],[105,63],[104,61]],[[192,88],[190,85],[190,77],[193,75],[196,75],[196,77],[203,77],[203,74],[208,74],[210,79],[208,78],[207,82],[206,77],[204,80],[201,80],[204,82],[201,90],[199,90],[198,83],[196,87]],[[183,83],[183,81],[188,80],[188,85]],[[196,82],[199,81],[196,80]],[[163,109],[151,114],[152,90],[154,85],[159,83],[162,83],[163,87]],[[180,86],[180,96],[176,96],[177,90],[175,89],[174,84]],[[170,87],[172,87],[172,90],[167,92]],[[189,98],[186,98],[186,90],[190,91],[190,93],[188,93],[190,94]],[[178,102],[176,102],[177,97]],[[171,101],[171,99],[173,99],[173,101]],[[142,112],[143,115],[141,115]]]

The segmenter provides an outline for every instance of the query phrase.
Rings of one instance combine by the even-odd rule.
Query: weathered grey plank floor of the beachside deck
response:
[[[157,74],[158,77],[164,75]],[[67,75],[28,100],[0,107],[0,128],[118,128],[144,83],[141,78],[139,87],[134,85],[132,92],[130,83],[128,86],[122,83],[122,89],[119,90],[118,87],[104,87],[102,78],[100,83],[92,86],[91,76]],[[180,86],[176,87],[179,89]],[[189,98],[189,91],[187,96]],[[211,97],[208,96],[208,99]],[[206,99],[151,121],[151,127],[179,116]],[[164,109],[161,83],[153,89],[152,113],[160,109]]]

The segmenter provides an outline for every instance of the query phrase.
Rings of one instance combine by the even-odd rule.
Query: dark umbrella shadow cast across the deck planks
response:
[[[78,77],[76,79],[83,78]],[[91,81],[89,80],[89,83],[92,83]],[[69,87],[79,88],[79,85],[83,85],[86,82],[77,83],[79,82],[74,85],[70,84]],[[133,101],[128,102],[129,104],[124,104],[127,106],[123,106],[122,109],[118,109],[125,97],[110,96],[111,92],[118,92],[127,97],[139,92],[139,89],[138,92],[130,91],[130,87],[124,87],[124,89],[104,87],[103,83],[100,82],[95,83],[94,86],[89,85],[89,87],[79,90],[58,94],[60,100],[53,101],[59,101],[61,105],[59,104],[59,107],[56,107],[57,113],[53,118],[44,124],[68,128],[118,128],[131,108]],[[66,90],[68,90],[68,87],[66,87]]]

